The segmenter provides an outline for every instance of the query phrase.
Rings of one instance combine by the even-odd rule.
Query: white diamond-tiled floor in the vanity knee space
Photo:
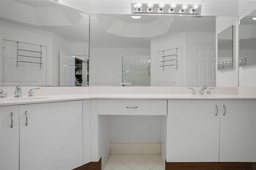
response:
[[[111,154],[103,170],[164,170],[160,154]]]

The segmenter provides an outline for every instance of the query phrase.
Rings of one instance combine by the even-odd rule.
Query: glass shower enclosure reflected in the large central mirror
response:
[[[150,86],[150,55],[122,55],[122,86]]]

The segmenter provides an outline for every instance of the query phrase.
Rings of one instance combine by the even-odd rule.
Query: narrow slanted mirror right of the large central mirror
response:
[[[218,70],[233,67],[233,26],[218,34]]]

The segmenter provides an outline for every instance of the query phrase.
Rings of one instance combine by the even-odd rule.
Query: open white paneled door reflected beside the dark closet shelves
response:
[[[60,86],[75,86],[75,56],[60,50]]]

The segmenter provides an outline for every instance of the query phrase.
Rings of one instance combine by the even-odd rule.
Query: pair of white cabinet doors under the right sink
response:
[[[168,100],[167,117],[167,162],[256,161],[256,100]]]

